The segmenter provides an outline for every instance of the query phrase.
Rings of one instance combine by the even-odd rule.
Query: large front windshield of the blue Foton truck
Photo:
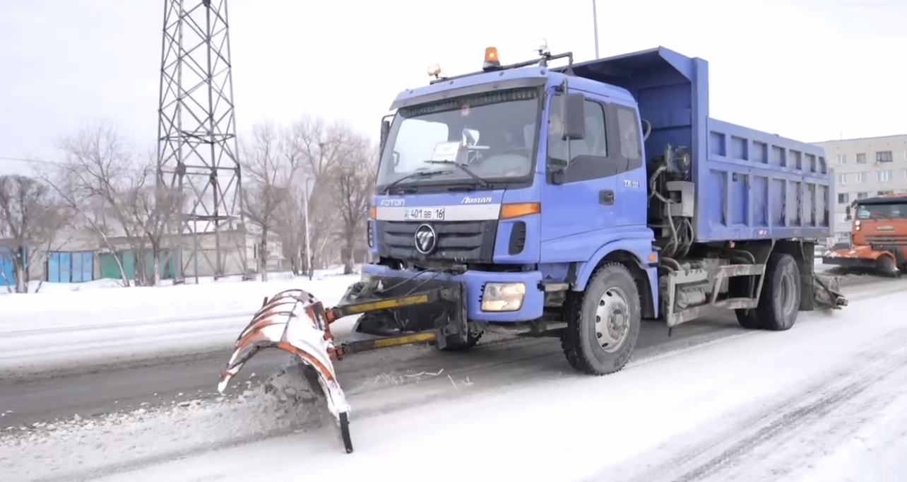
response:
[[[388,133],[378,167],[378,191],[424,184],[507,182],[532,173],[535,127],[540,111],[537,89],[481,93],[400,109]],[[457,166],[445,165],[457,162]]]

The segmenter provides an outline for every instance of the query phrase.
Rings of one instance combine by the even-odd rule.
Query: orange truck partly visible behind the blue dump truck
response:
[[[907,269],[907,193],[883,194],[847,206],[851,246],[828,251],[822,264],[900,276]]]

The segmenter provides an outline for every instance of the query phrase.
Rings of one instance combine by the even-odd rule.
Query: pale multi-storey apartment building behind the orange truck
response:
[[[844,221],[844,207],[853,200],[907,192],[907,134],[815,144],[824,147],[836,177],[834,234],[839,241],[849,239],[851,223]]]

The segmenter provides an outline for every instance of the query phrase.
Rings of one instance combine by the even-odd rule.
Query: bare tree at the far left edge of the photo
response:
[[[0,238],[8,240],[4,247],[13,264],[15,292],[28,292],[28,264],[49,249],[63,221],[46,185],[26,176],[0,176]],[[13,280],[2,281],[11,290]]]

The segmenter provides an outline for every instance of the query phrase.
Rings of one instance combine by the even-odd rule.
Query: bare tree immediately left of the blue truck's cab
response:
[[[353,272],[353,257],[357,240],[366,221],[368,202],[375,186],[375,160],[378,157],[375,145],[366,139],[353,144],[355,150],[338,162],[332,169],[334,178],[334,201],[343,219],[342,239],[344,243],[344,274]]]

